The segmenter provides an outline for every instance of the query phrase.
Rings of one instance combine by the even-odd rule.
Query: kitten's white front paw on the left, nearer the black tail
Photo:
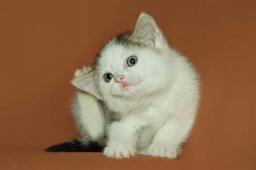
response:
[[[137,155],[136,149],[128,143],[112,142],[105,147],[103,154],[107,158],[133,158]]]

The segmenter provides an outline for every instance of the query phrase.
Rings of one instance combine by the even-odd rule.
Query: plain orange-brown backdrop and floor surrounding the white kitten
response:
[[[152,15],[201,76],[201,104],[176,160],[46,153],[77,137],[75,69]],[[256,169],[256,1],[0,1],[0,169]]]

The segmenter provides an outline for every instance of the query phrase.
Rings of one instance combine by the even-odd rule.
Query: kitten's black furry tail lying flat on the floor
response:
[[[47,152],[102,152],[104,147],[97,142],[89,142],[84,145],[79,139],[73,139],[59,145],[53,145],[46,148]]]

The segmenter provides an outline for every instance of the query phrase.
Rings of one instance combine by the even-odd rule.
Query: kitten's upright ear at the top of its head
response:
[[[142,12],[141,15],[139,15],[131,37],[144,39],[148,44],[150,44],[150,46],[155,46],[156,37],[158,36],[159,31],[160,30],[156,25],[154,18]]]

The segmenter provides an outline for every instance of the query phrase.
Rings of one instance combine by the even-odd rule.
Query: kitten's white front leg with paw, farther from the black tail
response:
[[[193,119],[166,122],[155,134],[147,149],[147,155],[175,159],[181,153],[181,145],[188,137]]]

